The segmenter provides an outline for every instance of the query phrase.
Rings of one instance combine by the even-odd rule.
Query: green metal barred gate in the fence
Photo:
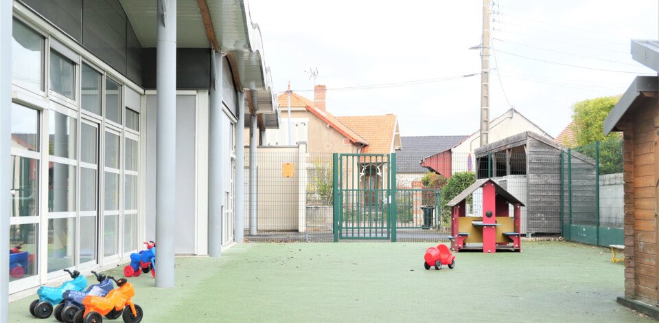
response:
[[[396,155],[334,154],[334,241],[396,241]]]

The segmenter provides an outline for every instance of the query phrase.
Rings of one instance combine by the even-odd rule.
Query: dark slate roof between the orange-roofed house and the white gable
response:
[[[397,172],[427,172],[419,163],[424,157],[453,148],[466,135],[429,135],[400,137],[401,149],[396,153]]]

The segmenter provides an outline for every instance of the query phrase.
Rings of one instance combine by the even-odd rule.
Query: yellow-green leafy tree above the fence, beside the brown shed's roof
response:
[[[605,136],[602,124],[619,99],[620,96],[594,98],[577,102],[572,106],[572,120],[575,123],[570,130],[575,134],[576,146],[618,136],[617,133]]]

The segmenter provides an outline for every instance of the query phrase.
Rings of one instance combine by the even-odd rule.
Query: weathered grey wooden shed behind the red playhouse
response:
[[[526,205],[521,216],[522,234],[562,233],[561,151],[566,153],[567,149],[530,131],[475,151],[476,178],[492,177]],[[573,208],[572,219],[592,217],[597,205],[594,160],[575,151],[570,155],[573,190],[581,192],[573,194],[573,203],[579,207]]]

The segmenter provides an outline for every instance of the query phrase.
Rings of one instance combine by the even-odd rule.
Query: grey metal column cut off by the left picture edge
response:
[[[9,249],[12,146],[12,3],[0,1],[0,250]],[[0,253],[0,323],[9,322],[9,254]]]

